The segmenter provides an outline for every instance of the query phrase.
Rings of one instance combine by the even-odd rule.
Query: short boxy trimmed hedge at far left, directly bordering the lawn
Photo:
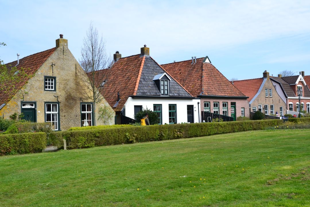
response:
[[[46,147],[46,133],[20,133],[0,135],[0,154],[14,155],[42,152]]]

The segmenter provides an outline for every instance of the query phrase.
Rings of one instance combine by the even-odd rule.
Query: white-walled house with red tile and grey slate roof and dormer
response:
[[[102,95],[116,113],[115,123],[134,119],[146,108],[157,112],[160,124],[199,122],[199,100],[149,55],[146,45],[140,51],[128,57],[117,51],[111,66],[96,76],[106,77],[97,84],[104,87]]]

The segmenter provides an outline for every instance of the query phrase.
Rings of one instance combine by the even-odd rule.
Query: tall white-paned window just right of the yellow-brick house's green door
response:
[[[53,130],[59,130],[59,103],[45,103],[45,122],[51,124]]]

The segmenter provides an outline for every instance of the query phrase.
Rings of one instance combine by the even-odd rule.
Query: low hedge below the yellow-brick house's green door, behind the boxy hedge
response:
[[[28,132],[52,132],[51,125],[47,123],[16,122],[7,128],[6,134],[28,133]]]

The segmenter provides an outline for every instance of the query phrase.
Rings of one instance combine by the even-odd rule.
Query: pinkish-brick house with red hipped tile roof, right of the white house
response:
[[[217,70],[208,56],[163,64],[193,96],[200,99],[201,111],[236,117],[249,117],[249,102],[225,76]]]

